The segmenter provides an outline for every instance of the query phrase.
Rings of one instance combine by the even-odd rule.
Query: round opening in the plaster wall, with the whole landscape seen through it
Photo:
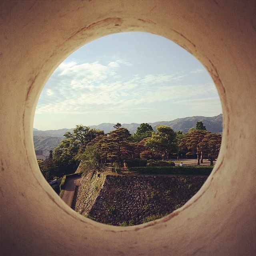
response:
[[[203,123],[197,127],[200,132],[190,131],[193,137],[187,133],[200,121],[209,132],[221,133],[220,112],[220,99],[210,75],[183,48],[148,33],[112,34],[71,54],[48,80],[34,121],[34,127],[39,128],[34,129],[38,164],[50,185],[78,213],[106,224],[141,224],[170,214],[202,186],[209,172],[202,169],[191,176],[197,164],[194,158],[202,155],[201,165],[209,165],[209,154],[212,160],[218,155],[220,138],[210,134],[203,141],[202,136],[207,133]],[[115,134],[120,139],[116,132],[122,129],[115,127],[118,122],[122,129],[130,132],[123,144],[113,137]],[[74,129],[81,123],[87,127]],[[163,138],[170,130],[164,131],[166,127],[161,130],[158,125],[180,132],[175,138],[171,136],[166,146]],[[73,128],[63,129],[66,127]],[[103,138],[94,142],[97,135],[102,136],[96,129],[108,133],[108,140],[112,136],[112,141],[106,142]],[[151,130],[154,130],[153,136]],[[62,139],[66,140],[61,142]],[[187,145],[195,139],[200,139],[198,143],[204,142],[200,152],[196,149],[198,145],[190,148]],[[186,143],[182,145],[183,141]],[[161,151],[156,148],[160,142]],[[210,142],[214,145],[206,149]],[[100,156],[96,156],[95,149]],[[92,154],[100,166],[88,161]],[[184,170],[179,166],[182,163]],[[166,171],[166,166],[172,164],[179,170]],[[82,182],[79,174],[62,180],[64,175],[92,166],[101,171],[88,174]],[[145,176],[136,166],[151,166],[155,170]],[[157,170],[156,166],[162,169]],[[132,167],[135,169],[129,172]],[[179,175],[174,175],[177,172]],[[206,176],[201,177],[204,172]]]

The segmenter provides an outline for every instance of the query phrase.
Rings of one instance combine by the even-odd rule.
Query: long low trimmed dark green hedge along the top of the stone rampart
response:
[[[212,166],[164,166],[164,167],[132,167],[129,172],[140,174],[190,174],[190,175],[210,175]]]

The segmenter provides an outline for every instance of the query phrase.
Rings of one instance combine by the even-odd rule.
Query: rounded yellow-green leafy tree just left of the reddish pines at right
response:
[[[177,152],[177,145],[174,142],[176,133],[170,126],[159,125],[156,127],[157,132],[152,133],[148,138],[145,146],[156,152],[162,160],[168,160],[170,153]]]

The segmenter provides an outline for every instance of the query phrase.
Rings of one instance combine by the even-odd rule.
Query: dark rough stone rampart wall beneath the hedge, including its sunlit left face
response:
[[[206,176],[89,174],[81,180],[76,211],[105,224],[138,225],[184,205],[206,179]]]

